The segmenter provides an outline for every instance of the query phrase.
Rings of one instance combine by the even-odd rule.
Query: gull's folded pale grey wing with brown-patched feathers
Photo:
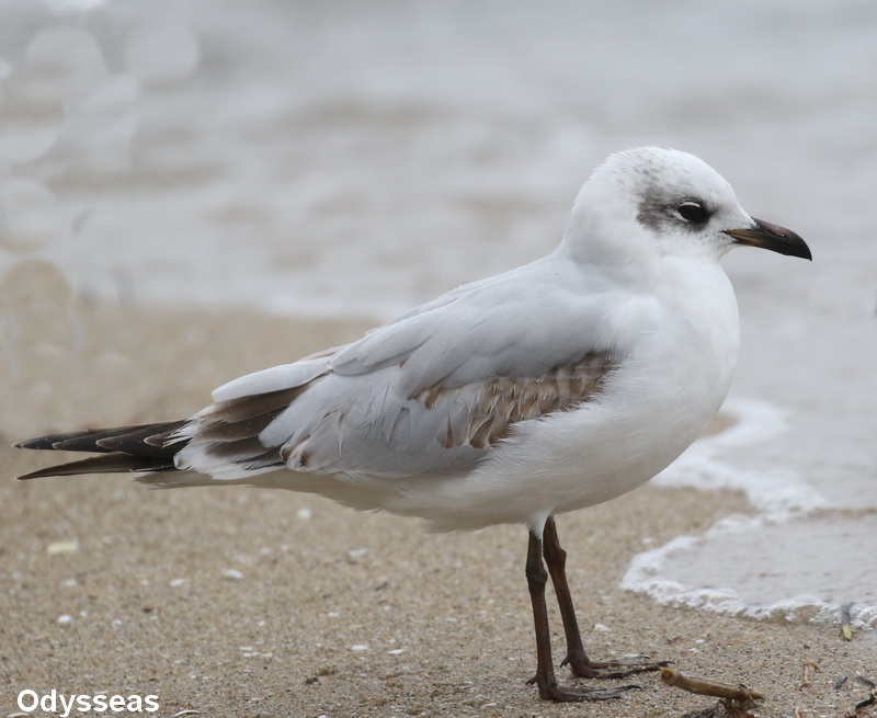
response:
[[[538,264],[524,267],[535,272]],[[340,350],[243,377],[184,432],[186,468],[239,478],[464,471],[515,424],[592,400],[622,361],[605,296],[521,297],[521,270],[463,287]],[[259,406],[257,402],[261,402]],[[252,409],[250,409],[252,407]]]

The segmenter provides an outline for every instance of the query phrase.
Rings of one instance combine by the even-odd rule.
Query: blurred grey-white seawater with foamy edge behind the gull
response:
[[[34,283],[383,321],[550,251],[611,151],[684,149],[815,262],[727,258],[731,425],[658,481],[754,514],[643,537],[624,584],[877,624],[875,27],[873,0],[3,0],[4,351]]]

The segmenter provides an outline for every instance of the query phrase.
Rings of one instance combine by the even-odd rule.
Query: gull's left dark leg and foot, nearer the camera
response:
[[[622,686],[620,688],[561,688],[557,684],[555,669],[551,661],[551,636],[548,628],[548,609],[545,605],[545,584],[548,582],[548,572],[542,560],[543,542],[533,532],[529,534],[527,545],[526,577],[529,588],[529,599],[533,602],[533,623],[536,629],[536,675],[527,683],[535,683],[539,689],[539,696],[545,699],[559,702],[581,702],[581,700],[611,700],[619,698],[622,692],[637,686]],[[569,589],[567,589],[569,599]],[[570,608],[572,604],[569,604]],[[574,618],[573,618],[574,623]],[[563,622],[565,627],[567,622]],[[576,635],[578,627],[573,625]],[[569,628],[567,635],[569,636]],[[579,639],[581,650],[581,639]],[[584,651],[582,650],[582,656]],[[586,660],[586,657],[585,657]]]

